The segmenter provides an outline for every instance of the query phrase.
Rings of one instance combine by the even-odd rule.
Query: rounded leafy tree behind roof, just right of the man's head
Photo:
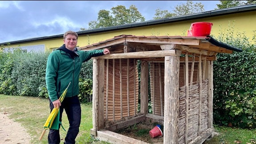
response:
[[[98,12],[98,20],[90,21],[88,29],[106,28],[145,21],[144,16],[141,15],[135,5],[131,5],[128,9],[123,5],[118,5],[111,8],[111,11],[100,10]],[[84,28],[81,28],[81,30],[84,30]]]

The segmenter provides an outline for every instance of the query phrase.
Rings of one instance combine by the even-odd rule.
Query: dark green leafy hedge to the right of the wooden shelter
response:
[[[213,64],[213,117],[216,124],[256,128],[256,41],[233,27],[220,33],[219,40],[243,49],[218,54]]]

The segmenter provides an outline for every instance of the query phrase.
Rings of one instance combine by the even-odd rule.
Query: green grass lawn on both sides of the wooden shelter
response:
[[[81,104],[82,120],[80,132],[76,138],[76,144],[107,144],[106,142],[97,142],[90,135],[92,128],[92,103]],[[0,95],[0,112],[8,112],[9,118],[19,122],[32,137],[33,144],[47,144],[49,130],[46,130],[44,137],[39,141],[43,132],[44,123],[50,114],[48,99],[28,97],[28,96],[6,96]],[[63,112],[62,124],[68,130],[68,120],[66,113]],[[205,141],[204,144],[255,144],[256,130],[214,127],[218,136]],[[66,132],[60,128],[60,137],[64,139]],[[64,140],[61,140],[63,143]],[[240,143],[241,142],[241,143]]]

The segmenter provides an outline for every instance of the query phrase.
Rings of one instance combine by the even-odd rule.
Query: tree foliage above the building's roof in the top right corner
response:
[[[220,4],[216,4],[218,9],[232,8],[240,5],[256,4],[255,0],[220,0]]]

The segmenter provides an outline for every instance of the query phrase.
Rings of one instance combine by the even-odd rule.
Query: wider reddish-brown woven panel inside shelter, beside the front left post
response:
[[[108,80],[104,84],[107,89],[104,94],[105,120],[116,121],[136,115],[139,95],[136,60],[105,60],[105,71],[105,80]]]

